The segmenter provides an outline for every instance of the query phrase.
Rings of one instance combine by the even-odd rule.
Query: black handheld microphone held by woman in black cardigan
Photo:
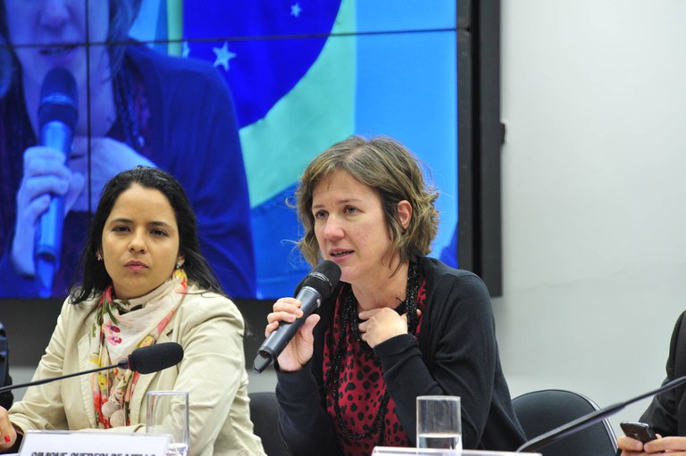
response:
[[[307,274],[303,281],[303,286],[298,290],[296,299],[302,303],[300,310],[303,316],[295,321],[280,321],[269,337],[266,338],[260,349],[257,351],[253,369],[261,373],[274,360],[276,360],[290,339],[296,335],[297,330],[303,326],[307,317],[319,309],[322,301],[329,297],[333,289],[339,285],[340,268],[333,261],[322,261],[312,272]]]

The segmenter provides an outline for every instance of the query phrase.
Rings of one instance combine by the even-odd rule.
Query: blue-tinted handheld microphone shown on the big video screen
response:
[[[71,73],[63,68],[50,70],[40,88],[40,145],[64,153],[65,164],[69,164],[71,139],[79,116],[78,106],[76,80]],[[50,296],[54,273],[60,267],[63,221],[64,198],[53,196],[47,211],[38,220],[34,249],[36,274],[40,282],[38,294],[44,298]]]

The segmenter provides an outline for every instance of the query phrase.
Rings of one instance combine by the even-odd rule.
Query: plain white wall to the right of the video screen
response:
[[[513,396],[606,406],[659,386],[686,309],[686,1],[501,6],[501,360]]]

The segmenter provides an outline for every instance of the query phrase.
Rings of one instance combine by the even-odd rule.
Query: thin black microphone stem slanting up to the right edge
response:
[[[686,376],[678,377],[673,379],[671,382],[665,383],[665,385],[660,386],[659,388],[653,391],[648,391],[648,393],[640,394],[636,397],[633,397],[632,399],[629,399],[628,401],[618,402],[614,405],[610,405],[603,409],[591,411],[589,414],[583,415],[582,417],[574,419],[573,421],[570,421],[569,423],[566,423],[560,427],[556,427],[555,429],[552,429],[545,434],[532,438],[531,440],[517,448],[516,452],[537,452],[538,450],[540,450],[540,448],[543,448],[548,444],[552,444],[554,442],[557,442],[558,440],[562,440],[568,435],[576,434],[577,432],[581,431],[581,429],[585,429],[586,427],[598,423],[598,421],[606,419],[610,415],[614,415],[616,412],[622,410],[624,407],[633,402],[638,402],[641,399],[645,399],[656,394],[665,393],[665,391],[669,391],[684,383],[686,383]]]

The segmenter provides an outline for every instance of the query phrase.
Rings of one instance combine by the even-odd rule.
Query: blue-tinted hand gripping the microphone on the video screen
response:
[[[51,195],[65,197],[66,214],[83,189],[85,178],[64,165],[64,154],[42,145],[24,151],[24,174],[17,192],[17,219],[14,224],[12,265],[26,276],[35,274],[33,250],[38,218],[50,204]]]

